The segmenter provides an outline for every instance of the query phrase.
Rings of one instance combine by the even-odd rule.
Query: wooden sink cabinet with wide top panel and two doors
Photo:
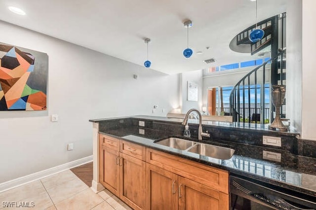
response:
[[[229,209],[228,172],[153,149],[146,158],[148,209]]]

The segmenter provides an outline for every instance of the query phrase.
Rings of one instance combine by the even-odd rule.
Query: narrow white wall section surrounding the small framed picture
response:
[[[183,72],[181,79],[182,88],[182,113],[187,113],[191,108],[196,108],[201,111],[202,107],[202,87],[203,87],[203,74],[202,70]],[[198,99],[197,102],[188,101],[188,81],[194,82],[198,85]]]

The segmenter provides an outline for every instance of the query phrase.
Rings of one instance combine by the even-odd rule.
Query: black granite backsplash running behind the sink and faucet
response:
[[[144,126],[139,126],[139,121],[144,122]],[[139,134],[139,129],[144,130],[144,135]],[[191,138],[197,139],[198,125],[189,124]],[[316,141],[310,142],[296,138],[293,133],[278,133],[275,131],[244,129],[236,127],[221,127],[203,125],[203,132],[208,131],[211,138],[203,138],[206,141],[225,140],[250,145],[264,146],[290,151],[294,154],[316,157]],[[148,119],[123,118],[112,119],[99,122],[99,131],[116,136],[135,135],[150,139],[161,139],[168,136],[183,135],[184,126],[179,122],[155,121]],[[262,136],[280,137],[281,147],[263,145]],[[313,144],[314,143],[314,144]]]

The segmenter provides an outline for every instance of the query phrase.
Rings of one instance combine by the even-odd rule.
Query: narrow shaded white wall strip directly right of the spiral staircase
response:
[[[302,0],[288,0],[286,11],[286,117],[302,131]]]

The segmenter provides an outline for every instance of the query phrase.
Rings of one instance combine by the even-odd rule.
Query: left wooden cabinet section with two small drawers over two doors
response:
[[[100,138],[100,183],[135,210],[146,208],[146,147]]]

